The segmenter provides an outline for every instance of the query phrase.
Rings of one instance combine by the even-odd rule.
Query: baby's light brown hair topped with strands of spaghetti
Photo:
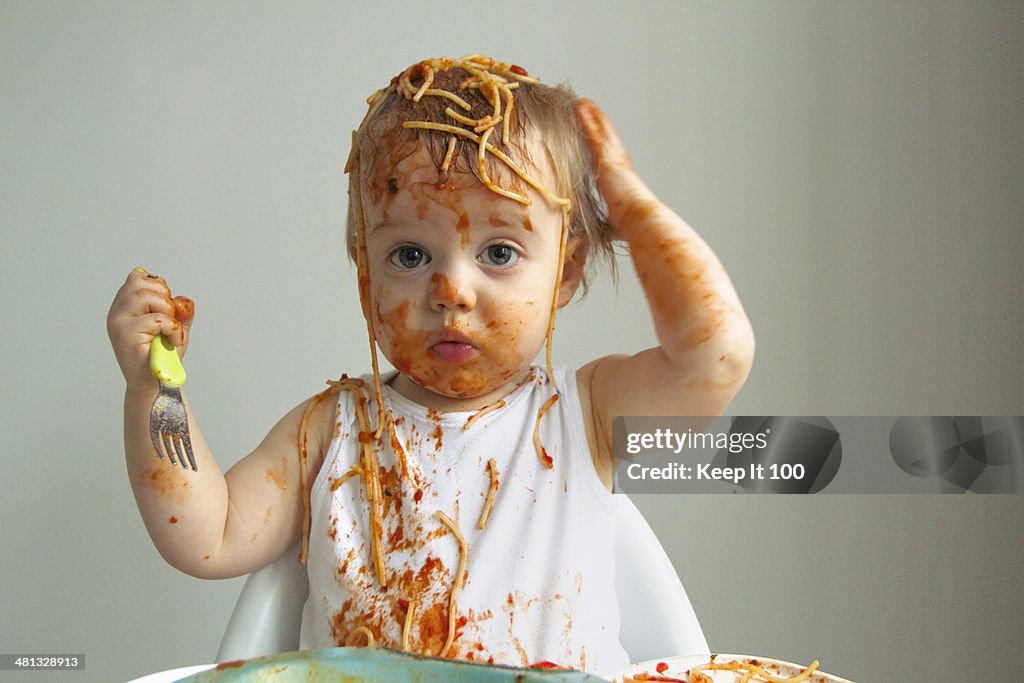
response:
[[[357,184],[375,201],[394,191],[388,187],[390,169],[424,146],[439,183],[453,172],[468,172],[513,201],[528,204],[524,185],[529,184],[548,201],[566,203],[571,208],[568,232],[581,240],[587,270],[603,260],[614,274],[612,228],[575,121],[578,98],[567,85],[544,85],[521,67],[470,55],[417,62],[367,101],[370,111],[353,134],[345,167],[350,198]],[[542,168],[530,155],[531,136],[547,156],[555,187],[531,182],[530,171]],[[350,199],[349,254],[356,242],[354,206]]]

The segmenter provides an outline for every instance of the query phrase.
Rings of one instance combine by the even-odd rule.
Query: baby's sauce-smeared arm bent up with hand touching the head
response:
[[[581,388],[589,389],[598,432],[592,445],[607,453],[614,416],[721,414],[750,373],[754,333],[721,262],[636,174],[607,117],[583,100],[578,118],[659,342],[636,355],[607,356],[581,369]]]

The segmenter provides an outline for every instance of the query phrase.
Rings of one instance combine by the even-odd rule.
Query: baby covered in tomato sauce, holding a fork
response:
[[[567,88],[472,55],[414,65],[369,103],[346,171],[371,374],[329,382],[226,474],[189,410],[197,469],[182,469],[150,439],[147,358],[157,335],[184,352],[191,302],[141,269],[115,297],[146,528],[168,562],[209,579],[301,544],[303,648],[622,669],[611,420],[725,409],[754,352],[736,293]],[[555,312],[613,240],[659,345],[553,367]],[[395,372],[380,373],[378,349]]]

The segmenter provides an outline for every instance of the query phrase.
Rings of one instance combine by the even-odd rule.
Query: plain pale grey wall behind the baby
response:
[[[180,574],[145,535],[106,308],[137,265],[197,300],[189,396],[225,468],[366,371],[342,166],[365,97],[424,56],[488,53],[608,112],[753,321],[731,414],[1024,414],[1022,19],[1012,2],[2,2],[0,650],[85,653],[41,675],[61,681],[212,659],[242,580]],[[559,318],[558,361],[654,343],[622,266]],[[1024,670],[1020,496],[637,503],[713,649],[859,681]]]

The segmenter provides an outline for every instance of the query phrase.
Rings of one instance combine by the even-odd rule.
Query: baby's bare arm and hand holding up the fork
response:
[[[106,318],[126,382],[128,478],[150,537],[176,568],[222,579],[266,564],[299,539],[303,505],[298,433],[308,401],[286,415],[225,475],[185,400],[198,469],[161,460],[150,439],[150,410],[159,389],[150,372],[150,342],[163,334],[183,352],[190,324],[190,301],[172,299],[163,279],[140,270],[129,274]],[[321,453],[321,436],[333,410],[329,401],[322,402],[310,421],[317,425],[309,430],[311,459]]]

